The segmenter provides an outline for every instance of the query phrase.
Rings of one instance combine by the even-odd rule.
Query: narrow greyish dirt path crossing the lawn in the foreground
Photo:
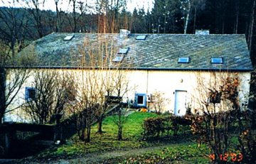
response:
[[[75,159],[69,159],[69,160],[60,159],[60,160],[48,161],[47,163],[50,163],[50,164],[102,163],[102,161],[110,158],[129,157],[132,155],[139,155],[143,153],[154,152],[171,145],[174,145],[174,143],[168,143],[168,144],[165,144],[164,146],[152,146],[149,148],[135,148],[127,151],[110,151],[110,152],[104,152],[104,153],[92,153],[82,158],[75,158]]]

